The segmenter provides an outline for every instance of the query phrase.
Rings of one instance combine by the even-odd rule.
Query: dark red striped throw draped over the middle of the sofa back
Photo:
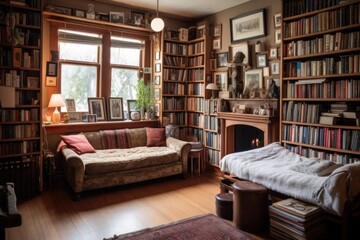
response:
[[[103,130],[100,136],[104,149],[130,148],[132,145],[129,129]]]

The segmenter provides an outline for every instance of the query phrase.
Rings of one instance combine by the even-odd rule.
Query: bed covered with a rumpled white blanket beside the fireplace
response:
[[[342,216],[349,202],[352,206],[360,205],[359,162],[342,166],[328,160],[306,158],[275,142],[226,155],[220,161],[220,169],[315,204],[333,215]]]

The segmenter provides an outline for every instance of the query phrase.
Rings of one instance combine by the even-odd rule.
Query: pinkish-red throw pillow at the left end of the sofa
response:
[[[61,139],[66,143],[68,148],[77,154],[94,153],[96,150],[91,146],[87,138],[83,134],[78,135],[62,135]]]

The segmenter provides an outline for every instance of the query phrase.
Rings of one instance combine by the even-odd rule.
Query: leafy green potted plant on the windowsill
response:
[[[149,119],[150,109],[154,105],[154,87],[153,82],[145,83],[144,79],[139,79],[136,85],[136,107],[138,107],[142,114],[142,119]],[[144,117],[146,113],[146,117]]]

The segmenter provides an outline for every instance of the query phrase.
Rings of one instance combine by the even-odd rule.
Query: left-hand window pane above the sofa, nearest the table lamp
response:
[[[98,34],[59,30],[61,95],[77,111],[88,111],[87,98],[97,96],[101,43]]]

